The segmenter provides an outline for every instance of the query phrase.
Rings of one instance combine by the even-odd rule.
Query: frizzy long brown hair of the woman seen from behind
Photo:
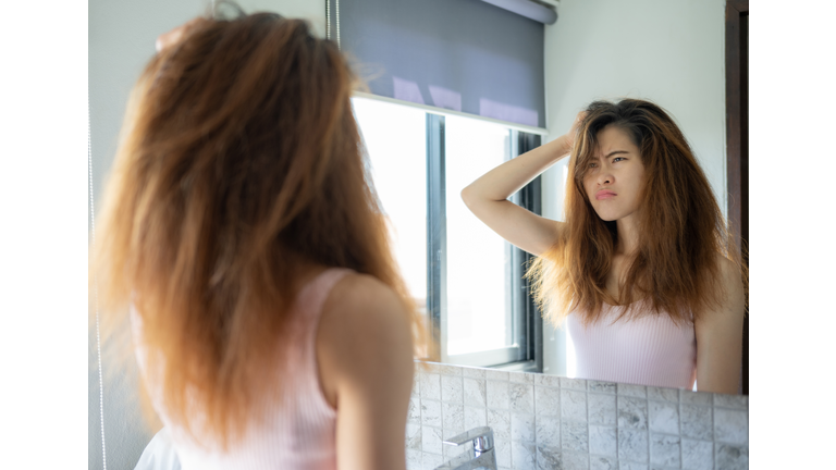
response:
[[[259,13],[198,22],[132,91],[90,277],[102,322],[135,306],[147,375],[197,442],[225,447],[294,380],[282,345],[305,265],[382,281],[426,338],[367,172],[357,85],[333,41]]]

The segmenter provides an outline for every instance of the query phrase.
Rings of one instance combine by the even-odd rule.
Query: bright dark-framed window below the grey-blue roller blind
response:
[[[539,136],[460,115],[355,97],[394,255],[435,331],[430,358],[542,370],[540,327],[522,280],[528,255],[464,205],[460,190]],[[539,178],[511,200],[539,213]]]

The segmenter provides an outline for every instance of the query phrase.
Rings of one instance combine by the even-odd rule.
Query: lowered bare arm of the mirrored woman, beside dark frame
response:
[[[700,392],[737,394],[743,344],[746,299],[740,271],[720,260],[725,293],[721,307],[694,321],[697,335],[697,388]]]

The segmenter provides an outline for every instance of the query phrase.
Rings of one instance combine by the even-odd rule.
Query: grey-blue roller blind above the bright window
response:
[[[544,25],[481,0],[329,0],[373,95],[545,127]]]

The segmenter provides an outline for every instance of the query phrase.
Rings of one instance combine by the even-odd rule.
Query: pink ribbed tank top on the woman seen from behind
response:
[[[346,274],[347,269],[329,269],[308,283],[296,297],[294,318],[297,329],[295,343],[288,345],[286,378],[281,403],[265,400],[265,419],[250,425],[243,438],[226,452],[207,450],[187,437],[183,429],[171,422],[148,383],[151,401],[171,434],[184,470],[221,469],[336,469],[336,410],[322,394],[319,384],[316,333],[319,318],[331,288]],[[132,311],[135,344],[142,345],[142,318]],[[145,372],[145,351],[136,348],[137,361]],[[266,371],[267,373],[267,371]]]

